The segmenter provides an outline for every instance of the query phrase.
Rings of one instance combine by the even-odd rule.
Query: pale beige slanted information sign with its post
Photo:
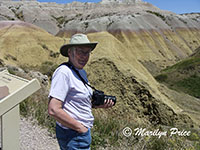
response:
[[[19,104],[40,89],[37,79],[31,81],[0,72],[0,150],[20,150],[19,143]]]

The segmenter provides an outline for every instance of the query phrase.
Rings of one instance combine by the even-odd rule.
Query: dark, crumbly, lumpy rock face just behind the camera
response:
[[[179,123],[181,125],[186,123],[189,127],[192,126],[192,120],[188,116],[175,113],[167,104],[154,98],[154,94],[138,83],[134,76],[124,75],[109,60],[100,59],[92,62],[88,67],[90,68],[88,72],[91,72],[89,78],[93,81],[92,84],[117,96],[118,103],[110,110],[114,111],[112,113],[116,115],[115,117],[129,116],[132,120],[142,118],[154,125],[173,124],[178,126]],[[96,74],[98,76],[95,76]]]

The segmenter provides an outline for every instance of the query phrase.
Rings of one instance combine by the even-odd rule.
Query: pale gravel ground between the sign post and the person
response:
[[[20,150],[59,150],[59,147],[56,138],[52,137],[47,129],[30,119],[21,118]]]

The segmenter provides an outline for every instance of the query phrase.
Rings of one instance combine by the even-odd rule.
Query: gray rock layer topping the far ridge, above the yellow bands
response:
[[[0,20],[21,20],[54,35],[63,31],[200,29],[200,14],[177,15],[141,0],[103,0],[67,4],[37,1],[1,1]]]

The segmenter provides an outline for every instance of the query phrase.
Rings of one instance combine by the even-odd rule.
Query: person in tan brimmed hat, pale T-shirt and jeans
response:
[[[70,43],[60,49],[63,56],[69,57],[68,63],[86,82],[88,79],[83,67],[96,45],[97,43],[91,43],[86,35],[75,34]],[[61,150],[90,149],[90,128],[94,120],[91,97],[92,89],[81,81],[76,71],[66,65],[55,70],[49,93],[48,113],[57,121],[56,136]],[[98,108],[109,108],[113,104],[112,100],[108,99]]]

